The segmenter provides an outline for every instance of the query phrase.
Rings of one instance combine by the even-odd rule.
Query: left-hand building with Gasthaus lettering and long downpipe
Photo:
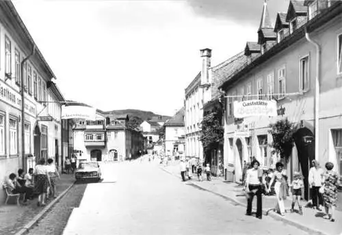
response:
[[[53,78],[55,74],[12,2],[0,1],[1,181],[10,173],[16,173],[18,168],[26,171],[28,167],[34,167],[41,157],[60,160],[59,103],[64,98],[57,86],[51,83]],[[21,96],[22,81],[24,100]],[[51,100],[58,104],[54,105],[55,109],[47,103]]]

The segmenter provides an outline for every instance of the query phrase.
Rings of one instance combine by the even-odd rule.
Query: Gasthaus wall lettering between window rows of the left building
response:
[[[21,110],[21,94],[0,80],[0,100]],[[36,116],[36,105],[25,98],[24,109],[26,113]]]

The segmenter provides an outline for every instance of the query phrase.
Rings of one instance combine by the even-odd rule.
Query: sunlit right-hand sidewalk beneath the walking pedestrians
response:
[[[179,164],[173,163],[172,165],[168,165],[167,167],[161,166],[161,169],[168,171],[170,174],[181,178],[181,174],[179,171]],[[242,186],[239,184],[235,184],[233,182],[226,182],[223,178],[215,178],[212,177],[211,181],[202,181],[199,182],[197,180],[197,175],[193,175],[194,180],[190,180],[191,184],[194,184],[206,191],[210,191],[215,195],[219,195],[220,197],[224,197],[225,199],[230,200],[235,204],[239,204],[240,206],[246,206],[246,197],[243,195]],[[239,196],[240,195],[240,196]],[[256,209],[256,202],[254,200],[253,207]],[[306,205],[306,201],[302,201],[302,205]],[[263,196],[263,210],[264,215],[267,210],[274,208],[276,204],[275,196]],[[324,213],[317,212],[317,210],[311,208],[303,209],[303,216],[298,213],[290,213],[289,210],[291,208],[291,198],[285,200],[285,209],[287,213],[284,217],[276,214],[275,212],[269,212],[269,216],[274,217],[274,219],[283,221],[285,223],[289,223],[296,227],[301,228],[302,230],[306,230],[315,234],[326,234],[326,235],[341,235],[342,234],[342,212],[335,210],[335,222],[330,222],[329,220],[323,219]]]

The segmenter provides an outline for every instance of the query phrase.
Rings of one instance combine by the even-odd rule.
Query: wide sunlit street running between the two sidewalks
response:
[[[267,216],[247,217],[245,208],[181,182],[157,162],[107,163],[102,171],[103,181],[88,184],[79,207],[73,205],[64,235],[307,234]],[[65,223],[55,223],[60,214],[53,211],[78,193],[71,190],[50,212],[55,215],[44,217],[29,234],[61,234]]]

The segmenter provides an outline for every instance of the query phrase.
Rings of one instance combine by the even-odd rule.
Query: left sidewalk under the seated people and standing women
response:
[[[61,179],[56,181],[57,195],[60,195],[63,191],[68,189],[68,186],[75,182],[75,178],[71,177],[71,174],[62,174]],[[49,199],[48,204],[53,199]],[[1,204],[0,206],[0,234],[16,234],[23,228],[31,219],[38,215],[44,207],[37,206],[38,198],[36,197],[32,201],[16,206],[14,200],[11,198],[8,205]]]

